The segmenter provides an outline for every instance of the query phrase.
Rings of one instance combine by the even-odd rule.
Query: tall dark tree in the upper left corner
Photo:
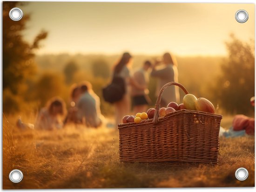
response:
[[[26,29],[29,15],[25,14],[19,21],[9,18],[9,11],[19,7],[19,4],[14,1],[3,2],[3,90],[8,88],[14,95],[20,94],[20,85],[34,74],[34,50],[47,37],[47,32],[41,31],[32,44],[23,39],[22,33]]]

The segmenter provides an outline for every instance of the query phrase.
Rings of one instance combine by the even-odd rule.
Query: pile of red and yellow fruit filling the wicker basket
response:
[[[193,94],[186,94],[183,98],[183,103],[178,105],[175,102],[170,102],[167,107],[162,107],[159,110],[160,117],[164,117],[168,113],[173,113],[182,109],[202,111],[207,113],[215,113],[215,108],[213,104],[205,98],[196,98]],[[148,109],[147,113],[137,113],[136,115],[126,115],[123,117],[123,123],[140,123],[144,119],[153,119],[155,114],[155,109]]]

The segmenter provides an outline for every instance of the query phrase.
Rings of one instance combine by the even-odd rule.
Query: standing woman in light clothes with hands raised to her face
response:
[[[156,69],[156,66],[160,63],[163,63],[165,66],[161,69]],[[166,83],[178,83],[178,69],[175,58],[171,56],[170,53],[164,53],[162,61],[155,61],[155,65],[152,67],[151,76],[158,78],[156,96],[158,96],[162,86]],[[166,107],[171,101],[176,103],[180,102],[179,87],[177,86],[169,86],[164,90],[161,99],[161,107]]]

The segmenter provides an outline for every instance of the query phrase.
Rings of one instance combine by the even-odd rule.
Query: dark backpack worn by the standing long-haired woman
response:
[[[126,93],[125,80],[114,76],[112,82],[102,89],[103,98],[109,103],[115,103],[123,98]]]

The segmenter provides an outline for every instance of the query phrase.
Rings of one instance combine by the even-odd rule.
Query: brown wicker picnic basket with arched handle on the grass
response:
[[[119,124],[119,155],[121,162],[212,163],[218,162],[219,130],[222,115],[192,110],[180,110],[159,117],[161,97],[155,104],[154,119],[141,123]]]

